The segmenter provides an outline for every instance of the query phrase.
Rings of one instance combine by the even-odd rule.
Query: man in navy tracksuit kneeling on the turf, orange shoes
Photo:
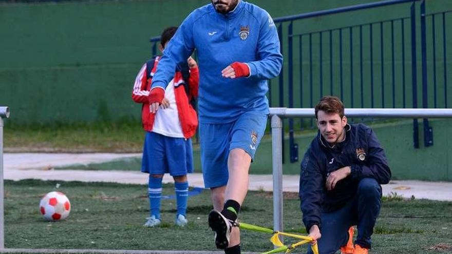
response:
[[[349,125],[344,105],[324,96],[315,106],[318,134],[301,164],[303,223],[321,254],[368,253],[381,207],[381,186],[391,178],[373,130]],[[352,243],[353,225],[357,237]],[[309,249],[308,253],[312,253]]]

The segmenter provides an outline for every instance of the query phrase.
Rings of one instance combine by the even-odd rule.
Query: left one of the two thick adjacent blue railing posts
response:
[[[412,77],[412,94],[413,108],[418,107],[418,73],[417,73],[417,57],[416,57],[416,5],[413,2],[410,7],[411,20],[411,77]],[[419,126],[418,120],[413,119],[413,146],[419,148]]]

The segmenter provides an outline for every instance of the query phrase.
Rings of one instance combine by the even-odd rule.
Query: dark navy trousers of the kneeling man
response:
[[[370,248],[376,217],[381,208],[381,186],[373,178],[360,181],[356,195],[341,209],[322,213],[322,237],[317,240],[319,254],[333,254],[347,244],[348,229],[357,225],[355,244]],[[312,253],[308,247],[308,253]]]

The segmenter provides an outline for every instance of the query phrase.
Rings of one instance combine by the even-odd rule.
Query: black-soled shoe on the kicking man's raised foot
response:
[[[225,249],[228,247],[233,225],[233,222],[226,219],[221,212],[217,210],[210,211],[209,226],[212,231],[215,231],[215,245],[217,245],[217,248]]]

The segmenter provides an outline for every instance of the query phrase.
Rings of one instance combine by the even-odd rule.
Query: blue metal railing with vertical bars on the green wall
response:
[[[426,14],[429,1],[387,0],[275,18],[285,63],[280,75],[269,81],[271,107],[312,108],[322,95],[334,94],[350,108],[418,108],[419,100],[423,108],[447,108],[452,88],[447,83],[446,25],[452,10]],[[344,13],[351,16],[375,8],[379,13],[390,10],[391,15],[362,16],[335,27],[335,21],[347,21]],[[317,25],[329,18],[333,20],[329,25]],[[307,23],[314,24],[313,29]],[[159,37],[151,39],[153,54],[158,41]],[[295,130],[313,127],[314,122],[285,121],[290,161],[295,162]],[[427,119],[423,130],[424,146],[432,145]],[[417,119],[413,146],[419,148]]]

